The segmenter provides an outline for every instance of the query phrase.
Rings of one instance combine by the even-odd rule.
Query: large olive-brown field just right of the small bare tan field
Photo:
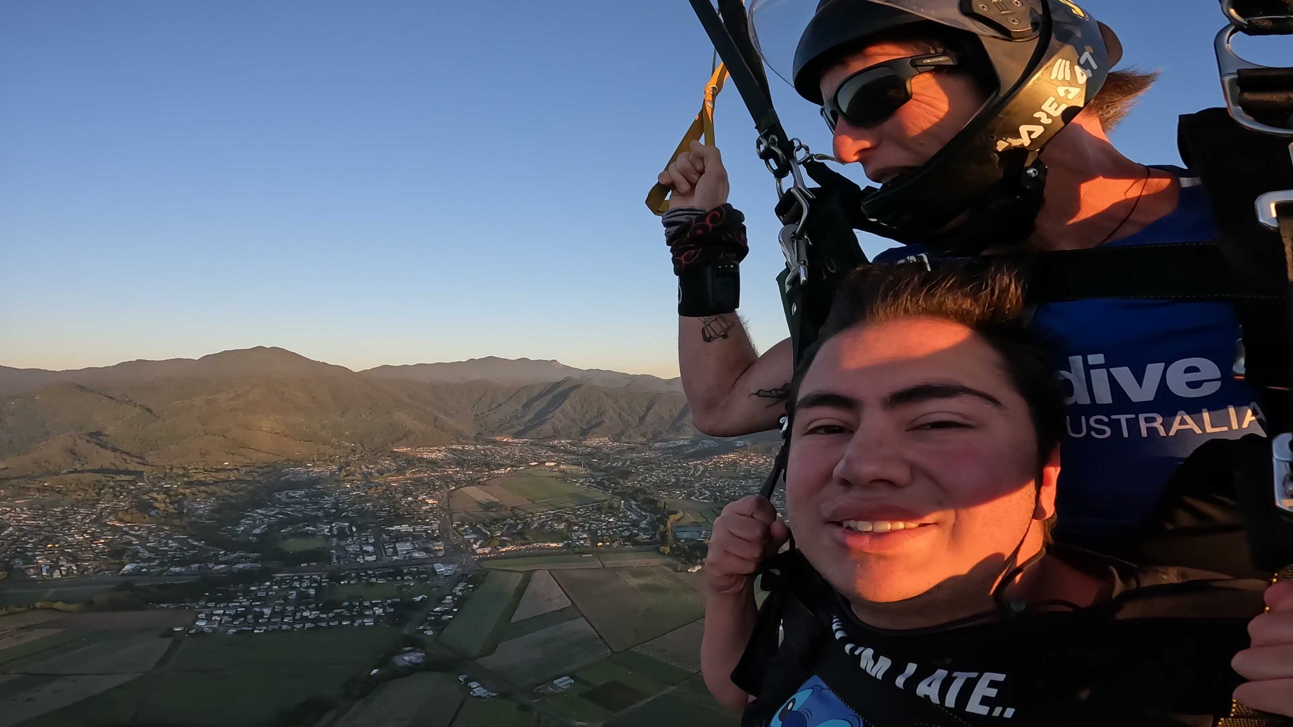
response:
[[[700,618],[703,596],[662,567],[557,570],[553,578],[613,651]]]

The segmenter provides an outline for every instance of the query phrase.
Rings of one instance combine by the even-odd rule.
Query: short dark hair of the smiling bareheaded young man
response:
[[[794,418],[799,385],[822,344],[861,323],[901,318],[945,318],[976,332],[1001,357],[1015,391],[1028,404],[1037,439],[1038,468],[1059,445],[1064,401],[1046,352],[1025,329],[1024,283],[1003,261],[948,261],[934,270],[915,263],[862,265],[840,285],[821,336],[790,383]]]

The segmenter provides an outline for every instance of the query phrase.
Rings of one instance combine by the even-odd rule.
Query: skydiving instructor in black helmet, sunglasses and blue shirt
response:
[[[1018,23],[998,27],[974,14],[988,4],[803,1],[816,8],[784,75],[821,107],[835,159],[861,164],[881,184],[868,212],[903,244],[878,263],[1217,237],[1190,171],[1143,164],[1111,144],[1109,131],[1156,75],[1112,70],[1121,44],[1085,9],[1015,3],[1049,18],[1036,38],[1015,38]],[[758,30],[759,3],[751,18]],[[1040,50],[1047,43],[1071,44],[1078,60]],[[1015,154],[1020,145],[1040,154]],[[790,340],[759,356],[734,312],[688,309],[698,268],[746,254],[721,155],[693,142],[659,182],[672,189],[663,222],[680,281],[679,366],[693,422],[712,436],[777,428]],[[1191,453],[1213,440],[1265,436],[1258,397],[1231,375],[1240,338],[1234,307],[1090,299],[1042,304],[1031,326],[1049,344],[1065,404],[1056,537],[1133,560],[1241,570],[1236,512],[1214,502],[1174,506],[1186,497],[1174,476]],[[1234,534],[1236,548],[1147,536],[1181,525],[1181,510],[1191,525]],[[1157,543],[1152,556],[1147,542]]]

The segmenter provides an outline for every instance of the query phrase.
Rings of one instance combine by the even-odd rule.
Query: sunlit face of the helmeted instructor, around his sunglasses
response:
[[[927,49],[906,43],[874,43],[826,70],[822,97],[862,69],[919,56]],[[958,70],[934,71],[912,79],[912,100],[873,128],[860,128],[840,119],[835,125],[835,158],[857,162],[866,177],[884,184],[930,160],[974,118],[987,97],[974,79]]]

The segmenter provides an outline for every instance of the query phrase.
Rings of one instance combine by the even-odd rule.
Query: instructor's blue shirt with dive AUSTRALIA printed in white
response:
[[[1206,194],[1182,179],[1177,210],[1108,246],[1217,235]],[[888,250],[892,263],[921,252]],[[1040,305],[1033,331],[1051,347],[1064,389],[1059,529],[1117,536],[1159,503],[1168,480],[1212,439],[1265,433],[1250,387],[1232,375],[1234,307],[1218,301],[1093,299]]]

